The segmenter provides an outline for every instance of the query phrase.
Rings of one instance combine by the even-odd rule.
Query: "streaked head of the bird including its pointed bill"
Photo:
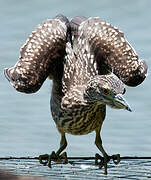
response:
[[[99,102],[116,109],[131,111],[129,104],[123,97],[124,83],[113,73],[98,75],[91,79],[84,92],[84,99],[88,103]]]

